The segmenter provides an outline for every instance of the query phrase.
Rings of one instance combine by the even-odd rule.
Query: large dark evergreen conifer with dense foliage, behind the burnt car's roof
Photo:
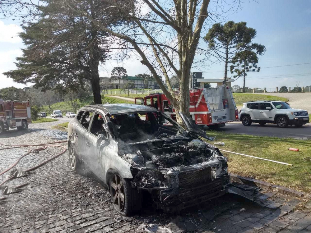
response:
[[[71,4],[96,20],[102,19],[102,15],[97,14],[103,9],[101,2]],[[4,74],[19,83],[35,83],[35,87],[42,87],[43,91],[77,91],[89,80],[94,103],[100,104],[98,67],[109,58],[108,33],[99,30],[86,16],[77,16],[68,10],[60,12],[62,5],[62,1],[55,1],[39,7],[39,21],[24,26],[24,32],[20,33],[26,49],[22,49],[22,57],[17,58],[17,69]]]

